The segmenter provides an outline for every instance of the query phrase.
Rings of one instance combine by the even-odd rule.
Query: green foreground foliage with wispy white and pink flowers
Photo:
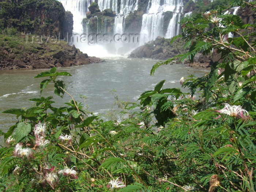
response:
[[[221,8],[185,18],[181,37],[189,52],[154,65],[152,74],[212,48],[222,63],[206,76],[181,78],[190,93],[159,82],[140,104],[126,103],[121,122],[91,115],[71,95],[58,108],[49,96],[30,99],[29,109],[4,111],[19,120],[0,150],[1,190],[254,192],[255,34],[244,33],[254,27]],[[70,76],[56,68],[38,74],[45,78],[41,92],[50,83],[56,95],[68,94],[60,75]]]

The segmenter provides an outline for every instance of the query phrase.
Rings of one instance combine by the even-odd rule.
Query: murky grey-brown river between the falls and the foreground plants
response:
[[[123,56],[105,58],[106,62],[88,64],[77,67],[57,68],[58,72],[67,71],[72,76],[62,76],[68,93],[76,101],[84,103],[79,95],[84,95],[89,110],[95,114],[106,114],[114,109],[114,95],[121,101],[136,102],[144,91],[154,89],[161,80],[166,79],[164,88],[180,87],[180,78],[189,74],[203,76],[208,69],[195,69],[183,64],[163,65],[154,76],[150,76],[152,66],[157,63],[153,59],[134,59]],[[30,98],[40,96],[39,83],[45,78],[33,78],[40,70],[0,71],[0,111],[10,108],[29,108],[34,102]],[[116,92],[113,92],[115,90]],[[114,94],[113,94],[114,93]],[[53,86],[48,86],[42,96],[54,97],[54,106],[69,101],[68,95],[63,99],[53,94]],[[64,105],[64,104],[63,104]],[[0,129],[4,132],[15,124],[16,116],[0,113]]]

